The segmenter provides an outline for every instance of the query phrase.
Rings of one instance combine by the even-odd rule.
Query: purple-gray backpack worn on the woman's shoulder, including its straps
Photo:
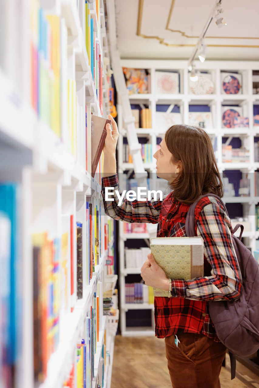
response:
[[[186,234],[195,236],[195,208],[203,197],[217,198],[226,214],[228,211],[220,197],[215,194],[200,196],[191,204],[186,217]],[[239,238],[234,236],[241,228]],[[244,227],[241,224],[233,229],[232,241],[242,274],[242,290],[240,299],[236,301],[208,302],[209,314],[219,340],[229,350],[231,361],[231,379],[235,378],[236,358],[247,357],[259,349],[259,264],[241,242]]]

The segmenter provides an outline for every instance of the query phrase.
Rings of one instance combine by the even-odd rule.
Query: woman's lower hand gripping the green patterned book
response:
[[[155,262],[154,256],[151,253],[147,255],[147,260],[142,265],[140,276],[147,286],[169,291],[170,284],[165,271]]]

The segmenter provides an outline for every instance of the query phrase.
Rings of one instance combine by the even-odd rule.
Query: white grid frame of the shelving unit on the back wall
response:
[[[252,71],[259,68],[259,62],[246,62],[246,61],[205,61],[201,63],[195,62],[195,67],[198,71],[210,75],[210,79],[214,83],[213,94],[195,95],[191,93],[191,81],[189,80],[187,61],[162,61],[162,60],[129,60],[122,59],[121,66],[131,69],[147,69],[151,77],[151,93],[147,94],[129,94],[129,100],[131,104],[145,104],[151,109],[151,121],[152,128],[136,128],[136,133],[139,138],[146,137],[147,142],[152,145],[152,155],[156,152],[157,138],[162,137],[162,134],[167,128],[162,131],[161,128],[156,126],[156,111],[158,105],[164,105],[169,107],[170,105],[178,106],[178,112],[180,113],[182,123],[189,123],[189,106],[200,106],[200,111],[204,111],[204,106],[212,114],[212,126],[205,128],[210,135],[212,144],[214,145],[215,156],[219,170],[223,173],[230,171],[235,173],[236,170],[240,171],[241,177],[248,177],[250,179],[250,196],[249,197],[236,197],[233,194],[228,194],[223,198],[223,201],[229,208],[230,216],[245,216],[250,223],[250,230],[244,230],[243,241],[253,251],[258,249],[256,240],[259,233],[256,230],[256,204],[258,203],[258,196],[253,195],[255,193],[255,171],[259,168],[259,163],[254,162],[254,137],[258,137],[259,126],[254,126],[254,107],[259,105],[257,95],[252,94]],[[156,93],[156,71],[171,71],[179,75],[179,94],[157,94]],[[238,73],[242,77],[242,90],[238,94],[225,94],[221,88],[221,72],[234,72]],[[225,128],[222,125],[222,106],[238,106],[242,108],[241,116],[249,118],[248,128]],[[197,107],[197,109],[199,109]],[[118,172],[119,177],[125,171],[128,173],[128,177],[131,176],[133,171],[132,163],[123,163],[123,138],[126,138],[127,132],[124,130],[123,120],[121,117],[121,107],[118,106],[118,127],[121,136],[118,140]],[[166,109],[164,109],[166,111]],[[197,110],[199,111],[199,110]],[[226,137],[228,142],[231,139],[239,138],[243,147],[249,150],[249,162],[235,162],[235,163],[223,163],[222,161],[222,138]],[[198,157],[198,155],[197,155]],[[156,166],[153,158],[153,163],[144,163],[145,170],[149,173],[152,179],[152,189],[156,187]],[[160,184],[161,181],[159,180]],[[230,181],[231,182],[231,181]],[[235,183],[234,181],[232,183]],[[124,182],[121,182],[123,185]],[[125,187],[124,187],[125,189]],[[238,187],[235,187],[236,191]],[[257,194],[258,195],[258,194]],[[243,214],[239,214],[240,208]],[[235,213],[236,212],[236,213]],[[235,213],[235,214],[234,214]],[[234,215],[233,215],[234,214]],[[128,282],[127,277],[129,274],[139,274],[139,268],[128,270],[125,268],[125,242],[128,239],[137,241],[146,239],[148,245],[149,233],[147,234],[130,234],[124,233],[123,223],[119,222],[119,255],[120,255],[120,300],[121,300],[121,334],[127,335],[142,335],[143,329],[141,327],[129,327],[127,326],[126,312],[129,308],[141,309],[145,308],[141,304],[125,304],[125,282]],[[152,225],[154,226],[154,225]],[[152,233],[154,234],[154,228]],[[239,231],[236,233],[239,236]],[[131,244],[133,247],[133,243]],[[146,258],[143,258],[143,262]],[[138,281],[140,281],[139,278]],[[147,335],[154,335],[152,330],[152,323],[150,327],[144,333]]]

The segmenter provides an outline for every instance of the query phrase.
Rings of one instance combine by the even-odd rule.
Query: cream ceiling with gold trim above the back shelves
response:
[[[115,0],[121,58],[189,59],[215,0]],[[210,24],[207,59],[259,60],[259,0],[222,0],[227,25]]]

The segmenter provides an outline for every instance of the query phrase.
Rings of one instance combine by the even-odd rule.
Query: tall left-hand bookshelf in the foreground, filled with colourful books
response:
[[[0,24],[0,386],[110,388],[115,223],[90,130],[109,114],[104,3],[11,0]]]

